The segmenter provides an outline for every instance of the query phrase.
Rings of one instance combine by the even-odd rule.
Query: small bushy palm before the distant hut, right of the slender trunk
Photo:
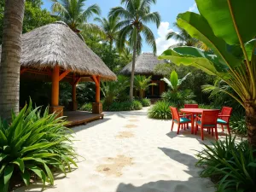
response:
[[[144,93],[146,90],[148,90],[148,87],[151,85],[156,85],[154,83],[150,84],[151,82],[151,76],[146,78],[143,75],[137,75],[134,78],[134,87],[135,90],[139,92],[139,98],[143,99]]]

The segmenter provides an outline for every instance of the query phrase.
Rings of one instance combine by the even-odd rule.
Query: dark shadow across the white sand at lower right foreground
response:
[[[213,192],[213,183],[208,179],[199,177],[201,169],[195,167],[197,161],[194,156],[180,153],[172,148],[159,148],[170,159],[187,166],[186,172],[189,174],[187,181],[181,180],[159,180],[144,183],[142,186],[134,186],[131,183],[119,183],[116,192]],[[169,172],[168,174],[176,174]]]

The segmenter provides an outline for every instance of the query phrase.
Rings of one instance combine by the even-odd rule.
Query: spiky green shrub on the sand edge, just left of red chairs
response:
[[[172,119],[170,106],[176,106],[173,103],[158,101],[148,109],[148,118],[151,119]]]

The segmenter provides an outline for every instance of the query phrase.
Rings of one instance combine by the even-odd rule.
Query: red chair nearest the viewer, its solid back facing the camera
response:
[[[218,119],[218,113],[219,110],[203,110],[201,113],[201,117],[196,117],[195,121],[195,134],[198,131],[198,127],[201,128],[201,140],[204,140],[204,129],[207,129],[207,131],[213,131],[215,130],[215,137],[218,140],[218,131],[217,131],[217,119]]]

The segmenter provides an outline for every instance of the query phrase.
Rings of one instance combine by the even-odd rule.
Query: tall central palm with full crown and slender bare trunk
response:
[[[133,49],[131,82],[130,82],[130,100],[133,99],[133,82],[136,55],[142,50],[142,33],[147,44],[153,48],[156,53],[156,44],[153,32],[146,26],[148,22],[153,22],[157,27],[160,26],[160,14],[158,12],[150,12],[150,6],[156,3],[156,0],[121,0],[123,7],[115,7],[110,10],[110,17],[119,17],[123,20],[119,21],[118,27],[119,38],[117,48],[121,52],[125,47],[125,41],[128,38],[129,44]]]

